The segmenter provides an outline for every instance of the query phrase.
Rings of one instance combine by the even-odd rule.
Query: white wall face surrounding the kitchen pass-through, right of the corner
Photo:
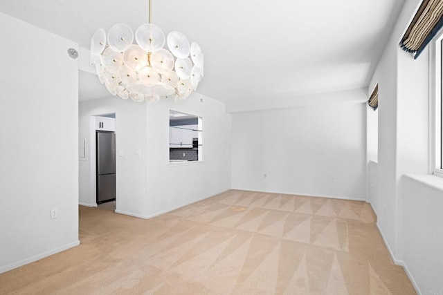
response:
[[[169,163],[169,111],[203,118],[204,161]],[[184,102],[147,104],[147,216],[230,189],[231,116],[215,99],[193,93]]]

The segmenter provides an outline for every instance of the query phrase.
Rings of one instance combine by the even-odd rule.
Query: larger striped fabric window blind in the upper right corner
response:
[[[442,17],[443,0],[423,0],[401,39],[401,48],[413,53],[414,59],[417,59],[429,41],[443,27]]]

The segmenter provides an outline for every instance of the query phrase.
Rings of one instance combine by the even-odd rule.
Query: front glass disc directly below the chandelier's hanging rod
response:
[[[155,53],[165,45],[165,34],[158,26],[145,23],[136,30],[136,41],[147,52]]]

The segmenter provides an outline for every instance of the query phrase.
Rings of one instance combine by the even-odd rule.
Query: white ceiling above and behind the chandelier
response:
[[[197,92],[222,102],[367,87],[404,0],[152,0],[152,22],[205,55]],[[0,11],[90,46],[97,28],[148,21],[148,0],[1,0]],[[80,99],[109,96],[80,71]]]

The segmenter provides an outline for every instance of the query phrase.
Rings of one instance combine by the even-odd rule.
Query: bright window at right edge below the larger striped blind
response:
[[[434,46],[431,49],[431,73],[433,79],[433,91],[431,91],[431,108],[432,110],[432,124],[431,130],[433,133],[432,148],[433,157],[431,160],[431,169],[433,174],[443,177],[443,33],[437,36]]]

